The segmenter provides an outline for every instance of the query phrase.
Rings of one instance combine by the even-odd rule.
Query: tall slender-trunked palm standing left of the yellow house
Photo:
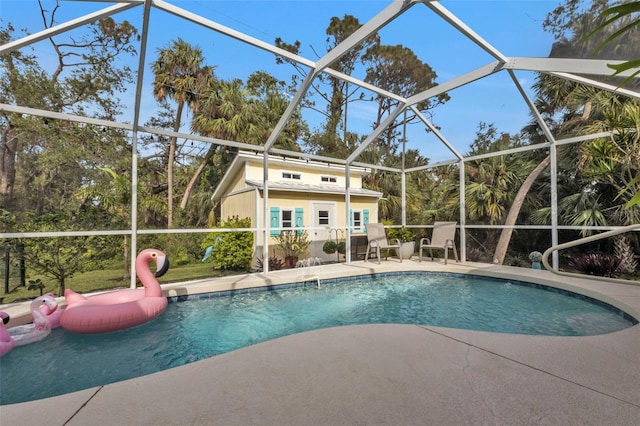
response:
[[[182,124],[184,107],[197,111],[198,93],[207,81],[213,78],[213,67],[203,66],[202,50],[181,38],[175,40],[171,47],[159,49],[158,53],[158,59],[152,66],[155,75],[153,96],[158,102],[172,99],[177,104],[173,130],[178,132]],[[167,226],[169,228],[173,223],[173,166],[176,146],[177,138],[171,137],[167,159]]]

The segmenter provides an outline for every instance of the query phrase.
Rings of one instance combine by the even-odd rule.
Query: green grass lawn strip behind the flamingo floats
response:
[[[197,263],[192,265],[171,266],[169,271],[160,277],[160,284],[172,282],[189,281],[201,278],[222,277],[227,275],[238,275],[240,272],[214,270],[210,263]],[[93,291],[111,290],[117,288],[128,288],[130,281],[122,279],[123,271],[119,269],[101,269],[89,272],[82,272],[70,278],[66,286],[78,293],[89,293]],[[54,293],[58,295],[60,286],[57,281],[42,276],[32,276],[30,279],[40,278],[44,284],[43,293]],[[4,289],[0,292],[3,304],[13,303],[23,300],[33,299],[40,296],[39,290],[28,290],[27,287],[18,287],[8,294],[4,294]]]

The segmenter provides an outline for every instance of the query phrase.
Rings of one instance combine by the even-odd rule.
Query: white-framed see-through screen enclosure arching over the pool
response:
[[[640,29],[616,4],[1,0],[0,239],[27,269],[111,259],[135,286],[142,248],[236,257],[242,231],[269,272],[275,159],[362,172],[389,232],[457,222],[462,261],[637,224]],[[263,162],[251,223],[212,199],[238,152]],[[353,185],[332,192],[346,262]]]

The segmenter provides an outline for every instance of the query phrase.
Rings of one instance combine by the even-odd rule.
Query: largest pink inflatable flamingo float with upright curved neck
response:
[[[149,262],[156,263],[155,276]],[[136,258],[136,271],[144,288],[115,290],[84,297],[69,289],[64,297],[67,307],[60,317],[62,328],[75,333],[107,333],[135,327],[156,318],[167,307],[156,277],[169,269],[169,261],[160,250],[145,249]]]

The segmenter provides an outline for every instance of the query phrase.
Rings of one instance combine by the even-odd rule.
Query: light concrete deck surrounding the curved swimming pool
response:
[[[429,270],[571,289],[640,319],[640,286],[546,271],[389,259],[277,271],[268,284]],[[163,286],[170,296],[258,285],[259,274]],[[160,373],[0,407],[11,425],[417,425],[640,423],[640,326],[549,337],[416,325],[287,336]],[[3,390],[6,391],[6,390]]]

